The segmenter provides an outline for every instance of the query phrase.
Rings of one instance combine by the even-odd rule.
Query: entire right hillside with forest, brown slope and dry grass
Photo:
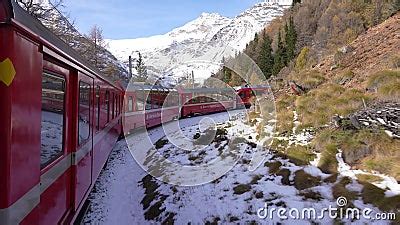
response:
[[[371,172],[357,175],[364,202],[397,212],[399,196],[385,196],[372,174],[400,181],[399,10],[399,0],[295,1],[213,76],[231,86],[246,78],[255,84],[257,74],[246,72],[255,62],[275,97],[270,149],[303,165],[318,155],[318,167],[338,179],[334,197],[355,199],[337,178],[342,154],[352,169]],[[290,141],[302,133],[313,134],[311,144]]]

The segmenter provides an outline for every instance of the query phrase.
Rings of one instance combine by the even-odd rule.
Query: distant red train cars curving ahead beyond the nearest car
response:
[[[238,108],[249,108],[266,86],[231,88],[165,89],[133,84],[125,93],[124,132],[154,127],[174,119]]]

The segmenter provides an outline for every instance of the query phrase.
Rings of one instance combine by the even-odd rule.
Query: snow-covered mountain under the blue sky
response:
[[[241,51],[271,20],[281,16],[292,0],[257,3],[234,18],[202,13],[197,19],[164,35],[108,40],[109,50],[121,61],[140,51],[149,74],[156,77],[185,77],[194,71],[202,81],[220,67],[223,57]]]

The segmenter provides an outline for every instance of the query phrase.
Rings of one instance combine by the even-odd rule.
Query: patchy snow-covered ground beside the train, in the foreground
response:
[[[138,132],[120,141],[115,146],[107,167],[102,171],[93,192],[90,194],[91,209],[84,218],[87,224],[204,224],[219,223],[261,223],[272,224],[311,224],[318,222],[331,224],[337,222],[325,215],[322,219],[281,219],[259,217],[259,209],[270,208],[313,208],[317,212],[329,206],[337,207],[332,194],[332,187],[338,184],[343,176],[352,171],[340,162],[340,173],[337,179],[322,173],[314,165],[297,166],[289,159],[274,155],[268,150],[261,150],[260,166],[250,169],[254,154],[260,153],[260,146],[265,139],[259,140],[255,126],[245,122],[244,111],[219,113],[209,116],[199,116],[179,121],[181,134],[170,130],[174,126],[152,129],[149,133]],[[214,120],[205,119],[210,117]],[[199,125],[200,124],[200,125]],[[210,126],[216,126],[216,138],[207,138]],[[265,127],[265,130],[271,130]],[[295,130],[293,131],[295,132]],[[168,134],[168,138],[165,137]],[[185,142],[183,137],[191,141]],[[304,135],[303,135],[304,136]],[[307,136],[307,135],[306,135]],[[235,138],[239,138],[234,141]],[[307,138],[300,138],[304,144]],[[147,144],[146,140],[155,143]],[[173,144],[172,144],[172,143]],[[157,144],[158,143],[158,144]],[[179,146],[179,147],[176,147]],[[141,154],[137,154],[137,153]],[[160,162],[157,154],[175,164],[195,168],[208,165],[215,161],[236,163],[231,167],[217,167],[226,171],[207,170],[196,171],[188,177],[182,171],[171,171],[171,168]],[[132,155],[135,157],[132,157]],[[340,155],[337,156],[340,161]],[[226,160],[228,159],[228,160]],[[138,163],[139,162],[139,163]],[[225,165],[225,164],[221,164]],[[221,166],[219,165],[219,166]],[[186,168],[185,167],[185,168]],[[148,175],[144,169],[158,179]],[[214,168],[215,169],[215,168]],[[192,172],[192,170],[190,170]],[[214,173],[213,173],[214,172]],[[202,182],[214,178],[211,182]],[[352,177],[352,176],[350,176]],[[200,181],[201,185],[179,186],[170,183],[189,181],[192,184]],[[168,182],[163,182],[168,181]],[[179,181],[179,182],[174,182]],[[385,179],[390,183],[390,179]],[[398,188],[397,183],[391,183],[392,194]],[[389,188],[390,188],[389,187]],[[362,186],[352,179],[346,185],[347,189],[359,193]],[[379,209],[364,204],[358,195],[352,201],[354,207],[370,208],[373,213]],[[373,215],[373,214],[372,214]],[[269,215],[268,215],[269,216]],[[342,219],[345,223],[350,220]],[[361,218],[356,224],[372,222]],[[353,223],[354,223],[353,222]],[[374,224],[388,224],[388,221],[374,221]]]

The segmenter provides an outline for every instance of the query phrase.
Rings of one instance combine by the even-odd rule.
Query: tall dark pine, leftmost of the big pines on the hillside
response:
[[[272,40],[264,31],[263,33],[263,41],[260,49],[260,57],[258,59],[258,64],[260,66],[261,71],[263,72],[265,78],[269,78],[272,75],[272,67],[274,64],[274,58],[272,56]]]

